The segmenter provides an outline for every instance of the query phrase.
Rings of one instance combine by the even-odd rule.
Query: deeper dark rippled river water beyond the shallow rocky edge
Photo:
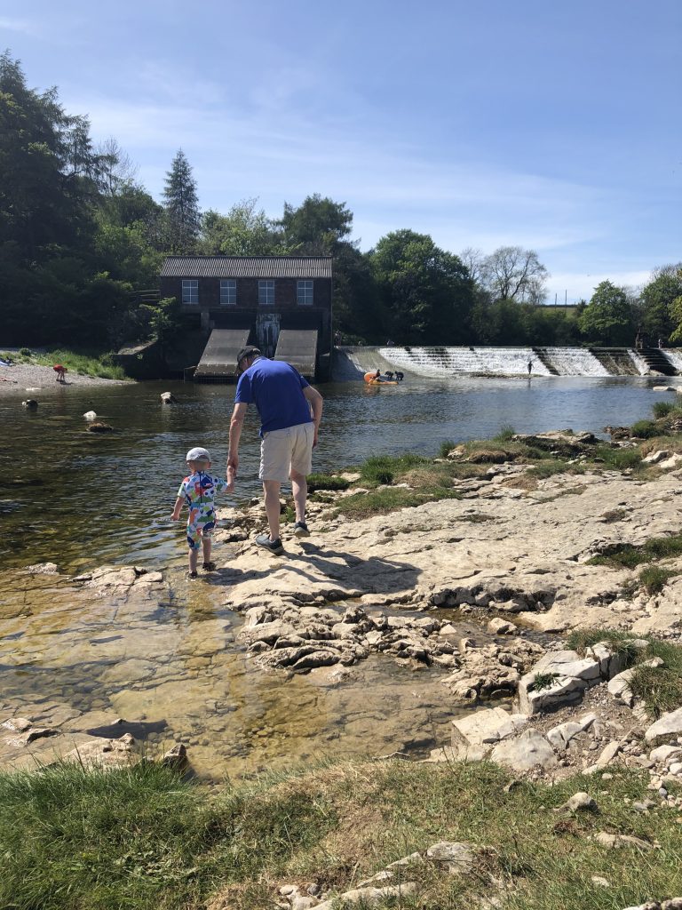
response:
[[[660,379],[411,379],[399,386],[320,386],[325,415],[315,470],[356,464],[371,454],[435,455],[443,440],[486,439],[505,425],[520,432],[607,424],[647,417]],[[176,405],[162,405],[162,391]],[[182,523],[167,516],[184,476],[185,454],[203,445],[213,470],[225,470],[234,386],[139,383],[33,393],[0,399],[0,564],[55,561],[61,570],[106,561],[165,564],[185,555]],[[86,410],[115,431],[85,430]],[[234,501],[259,492],[257,419],[246,421]]]

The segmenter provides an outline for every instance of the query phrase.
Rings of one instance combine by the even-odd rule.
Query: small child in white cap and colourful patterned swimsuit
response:
[[[211,534],[216,527],[216,507],[214,500],[216,492],[224,490],[231,493],[235,489],[235,479],[230,472],[227,480],[212,477],[208,470],[211,467],[211,457],[201,446],[196,446],[187,452],[187,465],[189,476],[180,484],[177,490],[176,507],[171,518],[179,521],[180,510],[186,502],[189,515],[187,517],[187,543],[189,544],[189,571],[187,578],[196,578],[196,562],[199,550],[204,550],[202,569],[215,571],[216,563],[211,561]]]

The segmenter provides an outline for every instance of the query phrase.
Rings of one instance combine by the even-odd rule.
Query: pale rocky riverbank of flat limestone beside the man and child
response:
[[[590,445],[575,437],[568,443]],[[559,446],[560,440],[552,444]],[[358,478],[350,477],[348,490],[311,504],[313,536],[286,540],[280,557],[264,554],[252,541],[262,526],[260,501],[246,510],[226,510],[228,527],[216,535],[216,543],[225,544],[216,550],[218,570],[194,583],[207,584],[213,602],[242,620],[232,626],[226,642],[216,628],[215,642],[203,645],[201,662],[210,672],[226,643],[244,654],[248,673],[274,673],[271,685],[278,684],[277,674],[283,681],[303,674],[316,684],[341,689],[356,680],[370,657],[417,674],[436,672],[455,720],[452,742],[435,743],[433,758],[450,760],[471,750],[483,757],[502,740],[520,740],[527,752],[535,731],[543,738],[544,758],[531,750],[536,758],[530,763],[524,759],[526,767],[519,764],[519,772],[556,776],[589,769],[608,754],[609,762],[630,756],[635,763],[651,763],[657,782],[669,767],[652,759],[643,738],[655,721],[653,713],[627,695],[627,678],[609,694],[613,677],[625,665],[608,643],[589,654],[567,652],[561,637],[581,628],[617,630],[627,632],[632,647],[641,649],[649,647],[644,636],[671,645],[682,637],[682,560],[666,561],[667,582],[655,594],[639,583],[635,571],[592,561],[624,544],[666,537],[682,525],[677,460],[669,453],[649,460],[652,467],[644,473],[592,469],[532,482],[526,465],[507,461],[480,476],[454,480],[457,499],[362,521],[349,521],[337,509],[343,497],[358,494]],[[221,560],[219,554],[230,549],[233,557]],[[140,602],[154,609],[179,584],[172,570],[133,569],[105,569],[60,583],[72,600],[108,600],[119,614],[134,612]],[[192,582],[183,584],[191,588]],[[28,603],[23,601],[29,611],[30,596]],[[53,606],[55,596],[51,591]],[[463,619],[470,623],[464,635]],[[15,616],[17,622],[18,628],[22,623]],[[78,640],[77,635],[70,638]],[[117,646],[121,656],[125,650]],[[653,660],[648,654],[645,658]],[[125,714],[134,725],[142,705],[148,710],[149,704],[141,697],[135,709],[135,688],[140,688],[135,668],[145,676],[151,670],[135,658],[125,671],[126,680],[133,674]],[[109,672],[115,678],[121,670]],[[158,668],[152,676],[157,685],[162,682]],[[534,684],[536,677],[542,686]],[[152,677],[145,691],[150,685]],[[499,698],[507,700],[502,713],[490,707]],[[511,716],[518,717],[510,725],[511,699],[517,700]],[[472,707],[484,709],[480,717],[486,717],[486,726],[480,733],[476,720],[469,741],[461,715]],[[19,743],[16,735],[11,743],[5,741],[7,761],[48,735],[32,733],[32,723],[35,730],[59,729],[43,707],[35,723],[32,711],[20,703],[6,702],[3,709],[5,723],[18,716],[27,724],[25,742]],[[569,724],[559,731],[553,716],[557,711],[561,722]],[[678,714],[668,731],[673,750],[682,744],[677,742],[682,736],[682,727],[675,726]],[[145,716],[151,723],[157,720]],[[100,711],[98,717],[80,721],[72,716],[69,724],[72,731],[86,733],[108,729],[117,720]],[[75,746],[83,742],[81,737]],[[484,742],[490,748],[478,748]],[[45,743],[39,746],[46,748]],[[496,760],[503,760],[504,753],[498,750]],[[676,756],[668,765],[676,765],[672,773],[682,770]]]

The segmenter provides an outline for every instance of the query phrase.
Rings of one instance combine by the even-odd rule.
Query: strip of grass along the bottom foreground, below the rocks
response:
[[[152,765],[3,773],[0,906],[265,910],[285,882],[337,894],[444,840],[471,845],[472,871],[406,867],[402,880],[417,893],[398,902],[405,910],[464,910],[480,895],[498,896],[505,910],[614,910],[682,894],[677,814],[630,805],[647,795],[647,773],[506,790],[511,780],[475,762],[340,763],[213,793]],[[578,790],[597,800],[597,813],[554,811]],[[600,830],[655,835],[658,846],[609,850],[591,839]],[[611,887],[596,888],[592,875]]]

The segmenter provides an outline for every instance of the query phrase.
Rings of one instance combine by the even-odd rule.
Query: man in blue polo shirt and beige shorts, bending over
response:
[[[239,467],[239,439],[246,408],[253,402],[261,420],[260,470],[270,533],[256,537],[256,543],[272,553],[283,553],[279,534],[279,488],[291,480],[296,505],[296,537],[307,537],[306,475],[312,470],[313,448],[322,417],[323,399],[300,373],[281,360],[268,360],[251,345],[236,357],[239,381],[235,410],[230,420],[227,473],[236,477]]]

